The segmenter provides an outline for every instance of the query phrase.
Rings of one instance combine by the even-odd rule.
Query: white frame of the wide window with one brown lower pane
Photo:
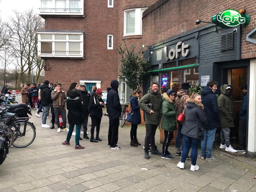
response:
[[[37,32],[38,34],[38,56],[39,57],[83,57],[83,32]],[[52,39],[41,39],[41,35],[47,34],[52,35]],[[66,40],[55,40],[55,35],[66,35]],[[69,35],[80,35],[80,40],[69,40]],[[41,43],[51,42],[52,43],[52,53],[41,53]],[[66,43],[66,51],[63,54],[55,53],[55,42]],[[69,51],[70,42],[80,43],[80,54],[72,54]]]

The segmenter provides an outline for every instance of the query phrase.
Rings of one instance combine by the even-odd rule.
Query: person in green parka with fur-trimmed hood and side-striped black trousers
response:
[[[162,104],[162,124],[161,128],[165,130],[165,140],[163,142],[162,158],[173,159],[168,151],[169,144],[173,139],[173,131],[176,130],[176,109],[173,101],[175,100],[176,92],[169,89],[163,94]]]

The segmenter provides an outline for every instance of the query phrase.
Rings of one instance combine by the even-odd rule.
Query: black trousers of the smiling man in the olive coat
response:
[[[151,143],[152,148],[156,147],[156,144],[155,144],[156,128],[158,128],[158,125],[146,124],[146,136],[145,136],[145,143],[144,143],[145,150],[149,149],[149,143]]]

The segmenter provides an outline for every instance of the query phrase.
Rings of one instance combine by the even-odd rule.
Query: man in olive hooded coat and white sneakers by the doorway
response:
[[[229,141],[230,128],[235,127],[233,121],[233,99],[232,88],[228,84],[221,86],[221,95],[218,97],[218,106],[221,118],[221,145],[219,148],[236,153]]]

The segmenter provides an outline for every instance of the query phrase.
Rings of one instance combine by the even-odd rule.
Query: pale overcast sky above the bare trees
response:
[[[0,17],[2,21],[7,21],[8,17],[14,16],[13,10],[23,12],[31,8],[37,13],[39,2],[39,0],[0,0]]]

